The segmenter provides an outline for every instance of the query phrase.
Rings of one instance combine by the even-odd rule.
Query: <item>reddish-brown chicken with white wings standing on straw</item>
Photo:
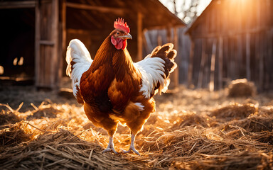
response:
[[[114,30],[102,42],[94,60],[80,40],[70,41],[66,53],[66,74],[72,79],[73,94],[82,103],[87,118],[107,130],[109,144],[103,152],[114,149],[117,124],[131,130],[131,145],[124,153],[135,152],[134,140],[151,113],[153,96],[166,92],[168,76],[176,68],[176,50],[168,43],[156,47],[144,60],[134,63],[127,50],[132,39],[124,19],[114,22]]]

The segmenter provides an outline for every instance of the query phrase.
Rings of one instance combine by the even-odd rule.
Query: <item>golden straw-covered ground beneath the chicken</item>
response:
[[[0,169],[273,169],[270,93],[231,98],[180,87],[156,96],[156,113],[137,135],[141,156],[102,154],[107,132],[69,94],[2,87],[0,103]],[[115,149],[129,143],[119,125]]]

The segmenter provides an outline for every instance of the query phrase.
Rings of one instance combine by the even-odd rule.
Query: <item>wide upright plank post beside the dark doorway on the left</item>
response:
[[[48,11],[45,13],[45,11]],[[36,87],[55,89],[60,80],[58,70],[59,1],[36,1]],[[43,39],[42,39],[43,38]],[[48,62],[50,61],[50,62]]]

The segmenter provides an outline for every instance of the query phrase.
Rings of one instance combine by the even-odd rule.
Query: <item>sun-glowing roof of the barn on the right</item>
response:
[[[212,0],[186,33],[228,36],[269,30],[273,26],[272,5],[267,0]]]

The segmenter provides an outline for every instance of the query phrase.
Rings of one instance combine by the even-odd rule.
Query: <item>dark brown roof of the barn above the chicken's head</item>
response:
[[[124,18],[129,26],[137,26],[138,13],[143,17],[143,29],[186,26],[158,0],[68,0],[66,3],[68,28],[107,28],[118,17]]]

